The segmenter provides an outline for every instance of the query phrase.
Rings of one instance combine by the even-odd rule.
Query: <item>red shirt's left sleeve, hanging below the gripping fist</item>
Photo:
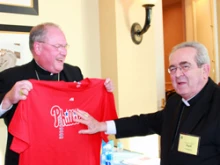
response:
[[[8,131],[13,135],[10,149],[21,153],[29,146],[27,100],[20,101],[9,124]]]

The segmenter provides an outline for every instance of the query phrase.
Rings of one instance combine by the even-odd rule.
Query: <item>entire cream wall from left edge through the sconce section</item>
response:
[[[113,80],[120,117],[160,108],[164,98],[161,0],[153,8],[151,27],[140,45],[135,45],[130,37],[132,23],[144,24],[145,10],[140,1],[39,0],[39,9],[39,16],[0,13],[0,23],[33,26],[50,21],[59,24],[70,44],[66,62],[80,66],[85,77]],[[2,135],[5,130],[1,127],[2,124]],[[1,136],[0,146],[4,145],[2,139]],[[158,156],[157,136],[123,142],[130,150]]]

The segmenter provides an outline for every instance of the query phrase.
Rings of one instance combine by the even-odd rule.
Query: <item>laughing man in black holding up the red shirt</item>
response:
[[[68,82],[83,79],[79,67],[64,63],[68,44],[58,25],[44,23],[33,27],[29,46],[34,58],[31,62],[0,73],[0,116],[7,126],[17,103],[25,100],[32,89],[28,79]],[[105,87],[112,91],[109,79],[106,79]],[[12,135],[8,133],[5,165],[18,165],[18,154],[9,149],[11,142]]]

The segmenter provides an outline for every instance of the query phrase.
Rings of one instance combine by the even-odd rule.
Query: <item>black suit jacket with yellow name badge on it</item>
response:
[[[161,165],[220,165],[220,88],[209,79],[189,102],[177,133],[179,111],[184,105],[182,98],[174,94],[161,111],[116,120],[116,137],[159,134]],[[197,156],[177,150],[180,133],[200,137]]]

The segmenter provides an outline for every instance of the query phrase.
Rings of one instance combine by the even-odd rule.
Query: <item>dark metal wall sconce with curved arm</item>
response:
[[[134,23],[131,27],[131,38],[135,44],[140,44],[143,39],[143,34],[148,30],[150,27],[151,22],[151,15],[152,15],[152,7],[154,4],[144,4],[143,7],[146,11],[145,23],[142,29],[139,23]]]

